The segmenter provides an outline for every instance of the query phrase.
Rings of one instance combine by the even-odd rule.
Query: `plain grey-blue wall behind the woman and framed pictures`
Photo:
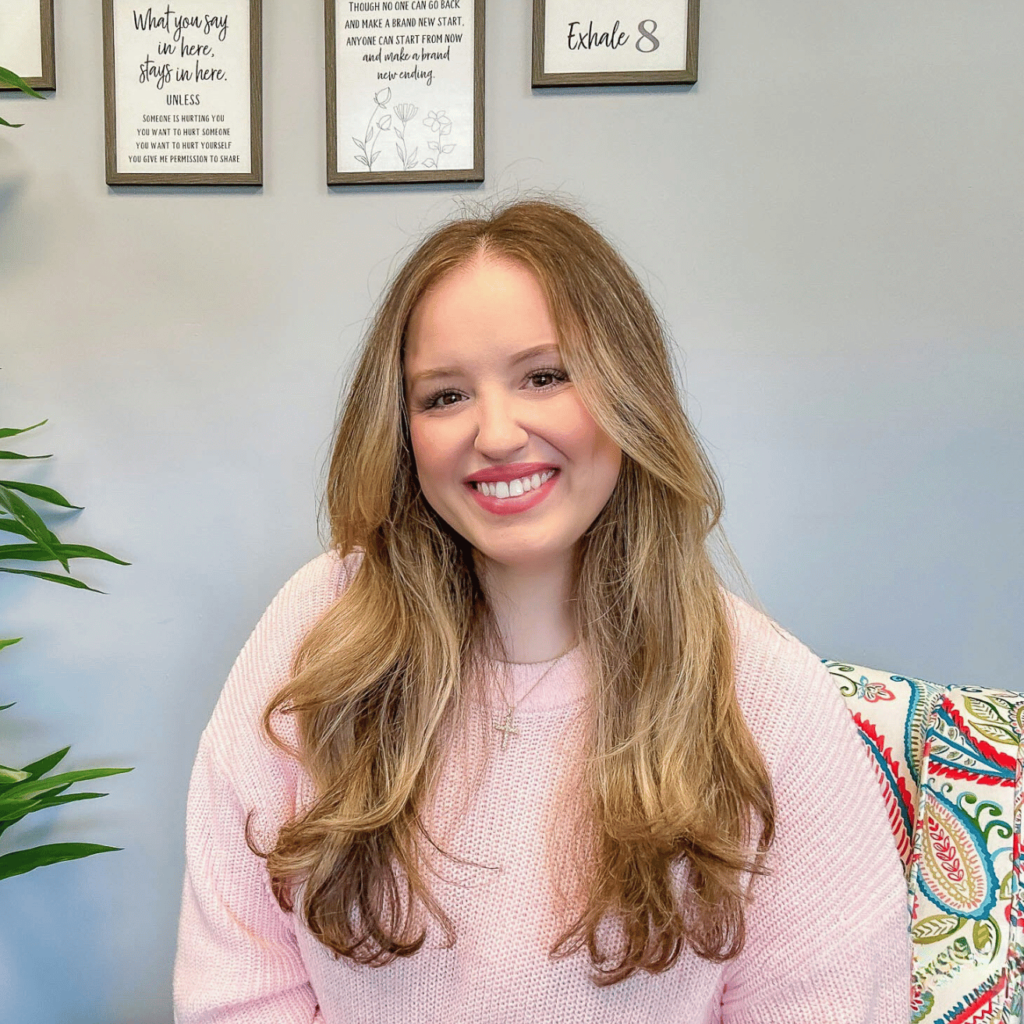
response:
[[[0,98],[2,424],[86,511],[108,596],[8,577],[0,761],[134,765],[17,838],[124,852],[0,887],[4,1022],[166,1024],[187,775],[231,662],[318,550],[342,369],[393,254],[463,195],[579,197],[684,353],[727,526],[822,655],[1017,688],[1024,6],[706,0],[700,81],[529,88],[488,4],[486,182],[329,190],[323,5],[264,13],[259,190],[109,188],[99,5]],[[26,451],[30,445],[26,443]]]

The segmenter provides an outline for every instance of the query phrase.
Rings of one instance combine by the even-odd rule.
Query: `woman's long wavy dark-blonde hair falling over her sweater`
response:
[[[580,216],[518,202],[434,231],[394,275],[366,339],[335,437],[332,545],[361,550],[350,585],[307,634],[275,714],[316,798],[268,853],[282,906],[337,955],[380,965],[423,944],[431,895],[421,810],[466,709],[480,651],[501,647],[472,549],[427,504],[402,383],[410,314],[445,274],[485,254],[532,271],[564,365],[623,452],[615,488],[577,545],[577,636],[591,686],[583,810],[593,849],[574,922],[552,955],[589,950],[598,984],[664,971],[691,947],[743,945],[746,882],[764,870],[775,807],[733,685],[724,592],[708,553],[722,512],[681,408],[659,324],[636,276]],[[494,649],[493,647],[490,649]],[[680,893],[673,869],[686,869]],[[621,926],[617,953],[598,925]]]

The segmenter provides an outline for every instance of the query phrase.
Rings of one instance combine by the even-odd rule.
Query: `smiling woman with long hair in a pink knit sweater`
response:
[[[820,662],[722,588],[594,228],[525,202],[416,250],[327,504],[200,745],[179,1024],[905,1024],[877,783]]]

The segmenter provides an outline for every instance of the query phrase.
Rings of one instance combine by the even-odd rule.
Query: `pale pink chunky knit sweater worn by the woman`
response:
[[[546,851],[566,827],[551,811],[571,785],[568,752],[581,732],[578,649],[519,706],[505,751],[490,743],[485,709],[476,739],[453,750],[427,823],[479,865],[447,861],[432,884],[455,945],[443,948],[433,928],[418,953],[385,967],[335,959],[279,907],[243,829],[255,809],[265,843],[311,796],[294,761],[261,737],[259,716],[358,557],[322,555],[285,585],[203,734],[188,795],[177,1024],[906,1024],[907,890],[878,783],[818,659],[738,598],[737,692],[778,821],[737,958],[685,952],[662,974],[598,987],[586,952],[549,957],[561,919]],[[514,666],[516,694],[548,667]]]

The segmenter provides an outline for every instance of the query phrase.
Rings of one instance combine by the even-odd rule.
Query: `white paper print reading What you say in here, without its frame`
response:
[[[114,4],[119,174],[248,174],[249,0]]]

